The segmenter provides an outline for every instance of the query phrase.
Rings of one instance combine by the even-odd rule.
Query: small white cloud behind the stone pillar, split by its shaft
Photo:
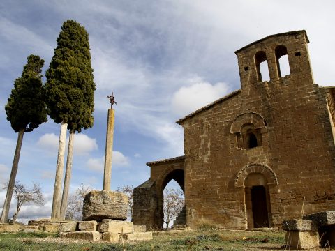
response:
[[[103,172],[105,165],[105,157],[102,158],[89,158],[87,161],[87,167],[93,171]],[[128,157],[119,151],[113,151],[112,153],[112,167],[124,167],[129,165]]]

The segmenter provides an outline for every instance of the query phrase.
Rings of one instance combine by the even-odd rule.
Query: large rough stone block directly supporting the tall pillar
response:
[[[128,197],[122,192],[89,192],[84,198],[82,220],[126,220]]]

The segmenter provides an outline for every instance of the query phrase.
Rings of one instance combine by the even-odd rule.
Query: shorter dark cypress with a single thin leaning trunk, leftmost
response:
[[[39,56],[28,56],[28,62],[23,68],[21,77],[15,79],[14,89],[12,89],[5,107],[7,119],[10,121],[13,130],[18,132],[18,137],[6,199],[1,214],[1,222],[3,223],[8,220],[24,132],[31,132],[38,128],[41,123],[47,121],[45,91],[42,83],[43,75],[40,74],[43,65],[44,60],[40,59]]]

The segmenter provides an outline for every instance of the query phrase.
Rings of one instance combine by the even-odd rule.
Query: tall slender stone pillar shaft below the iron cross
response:
[[[110,191],[110,178],[112,176],[112,150],[114,133],[114,109],[108,109],[106,149],[105,149],[105,168],[103,172],[103,190]]]

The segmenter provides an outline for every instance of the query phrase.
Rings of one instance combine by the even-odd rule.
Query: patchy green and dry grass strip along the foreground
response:
[[[123,251],[121,243],[52,243],[44,241],[56,234],[0,234],[0,250],[74,250],[74,251]],[[197,231],[154,232],[152,241],[126,242],[127,251],[151,250],[283,250],[283,231],[228,231],[198,229]],[[43,238],[38,241],[39,238]]]

